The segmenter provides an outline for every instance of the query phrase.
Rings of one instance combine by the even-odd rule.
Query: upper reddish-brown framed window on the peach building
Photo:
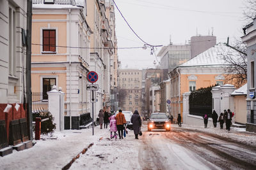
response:
[[[43,52],[56,52],[56,30],[43,30]]]

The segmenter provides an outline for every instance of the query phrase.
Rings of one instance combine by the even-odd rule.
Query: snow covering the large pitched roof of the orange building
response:
[[[202,52],[193,59],[184,62],[178,67],[191,67],[191,66],[228,66],[229,64],[225,61],[224,57],[227,55],[232,55],[234,60],[241,60],[241,54],[234,50],[230,46],[225,45],[224,43],[218,43],[217,45],[212,46],[205,52]]]

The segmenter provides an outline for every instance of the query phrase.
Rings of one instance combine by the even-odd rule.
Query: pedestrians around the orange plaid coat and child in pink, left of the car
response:
[[[105,121],[106,120],[106,121]],[[99,111],[99,124],[100,129],[102,129],[102,124],[106,122],[106,129],[108,129],[108,120],[109,120],[109,127],[110,127],[110,138],[117,139],[116,131],[118,131],[119,139],[124,139],[124,127],[126,124],[125,116],[122,113],[122,110],[119,110],[118,113],[114,115],[109,115],[107,111],[100,110]],[[131,117],[131,123],[133,126],[133,131],[135,135],[135,139],[138,139],[138,135],[141,132],[141,118],[139,112],[137,110],[134,111]]]

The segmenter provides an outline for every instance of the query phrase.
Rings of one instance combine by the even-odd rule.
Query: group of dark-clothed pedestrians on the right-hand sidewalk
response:
[[[224,110],[224,113],[220,113],[220,117],[215,110],[212,111],[212,122],[214,127],[217,127],[217,122],[220,122],[220,129],[223,129],[223,124],[226,124],[226,129],[230,131],[230,125],[232,124],[232,117],[234,117],[234,113],[232,113],[229,109]],[[204,118],[204,127],[207,128],[208,118],[209,116],[205,113]]]

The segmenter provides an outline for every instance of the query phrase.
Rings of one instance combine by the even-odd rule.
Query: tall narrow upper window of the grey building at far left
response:
[[[15,76],[15,32],[16,32],[16,25],[15,25],[15,8],[13,6],[9,7],[9,74]]]

